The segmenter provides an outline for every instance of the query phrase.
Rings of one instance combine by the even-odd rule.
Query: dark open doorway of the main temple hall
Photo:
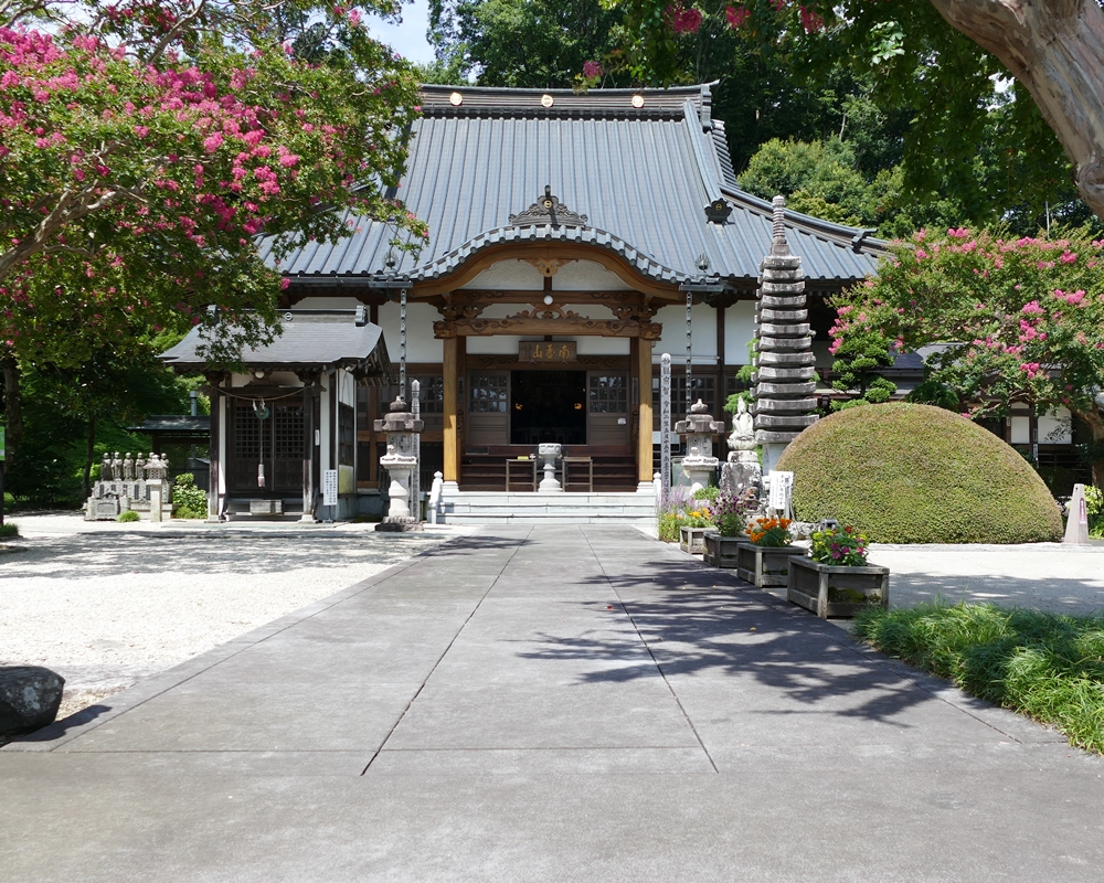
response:
[[[586,444],[585,371],[511,371],[510,444]]]

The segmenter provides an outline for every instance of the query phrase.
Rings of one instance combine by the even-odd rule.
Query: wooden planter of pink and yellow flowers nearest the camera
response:
[[[814,531],[811,557],[790,561],[786,597],[821,619],[889,607],[890,571],[867,563],[867,538],[851,526]]]

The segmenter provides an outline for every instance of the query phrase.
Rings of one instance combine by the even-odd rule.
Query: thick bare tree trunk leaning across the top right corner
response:
[[[1031,93],[1104,220],[1104,12],[1096,0],[932,0]]]

